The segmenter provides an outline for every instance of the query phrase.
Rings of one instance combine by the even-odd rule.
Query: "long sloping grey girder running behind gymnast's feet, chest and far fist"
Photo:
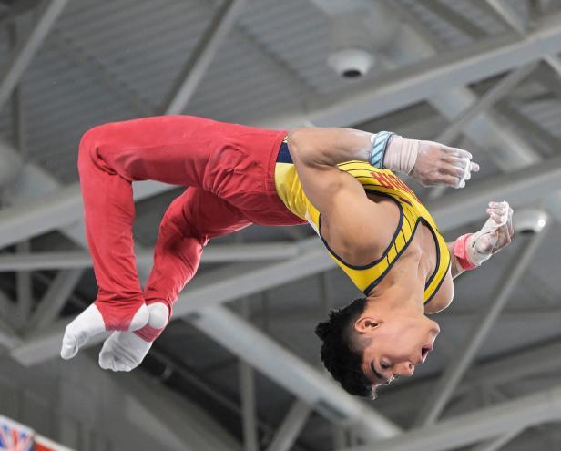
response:
[[[441,231],[484,217],[489,200],[508,200],[513,208],[542,200],[547,193],[561,190],[561,157],[510,174],[503,174],[464,190],[457,190],[429,205]],[[189,283],[189,290],[179,296],[173,318],[197,313],[209,305],[240,299],[334,268],[334,261],[322,248],[321,241],[309,241],[292,259],[270,265],[229,265],[214,272],[200,274]],[[70,321],[70,318],[67,320]],[[22,364],[35,364],[58,354],[64,327],[30,338],[13,351]],[[99,343],[99,339],[88,344]]]

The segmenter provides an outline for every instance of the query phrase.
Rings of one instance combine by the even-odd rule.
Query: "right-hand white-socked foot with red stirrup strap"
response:
[[[168,324],[168,306],[163,302],[148,305],[148,324],[137,332],[114,332],[103,343],[99,366],[104,370],[130,371],[142,363],[152,343]]]

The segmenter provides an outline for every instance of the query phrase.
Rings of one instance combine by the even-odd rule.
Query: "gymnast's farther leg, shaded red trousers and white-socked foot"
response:
[[[135,333],[113,333],[99,354],[99,365],[113,371],[136,368],[166,327],[172,306],[197,272],[209,239],[248,225],[240,210],[208,191],[189,188],[174,200],[160,225],[154,266],[144,291],[148,324]]]

